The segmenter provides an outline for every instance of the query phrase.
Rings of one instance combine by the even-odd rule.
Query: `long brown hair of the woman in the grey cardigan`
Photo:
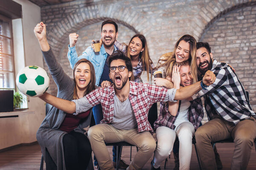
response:
[[[77,84],[76,84],[75,71],[76,71],[77,66],[82,62],[85,62],[90,66],[90,77],[91,77],[90,83],[87,85],[86,91],[84,91],[84,96],[95,89],[96,78],[95,78],[95,71],[94,71],[93,64],[87,59],[80,59],[78,62],[76,62],[75,66],[73,68],[73,80],[75,82],[73,99],[79,99],[78,94],[77,94]]]

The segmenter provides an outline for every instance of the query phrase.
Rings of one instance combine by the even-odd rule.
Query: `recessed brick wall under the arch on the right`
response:
[[[256,6],[239,8],[220,17],[200,39],[209,42],[215,59],[227,62],[249,91],[256,110]]]

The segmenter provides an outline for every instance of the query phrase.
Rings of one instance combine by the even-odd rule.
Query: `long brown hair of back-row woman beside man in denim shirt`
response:
[[[154,68],[152,68],[152,66],[151,66],[151,64],[153,62],[148,54],[148,45],[147,45],[146,38],[142,34],[134,35],[128,44],[128,48],[129,48],[129,45],[131,44],[131,41],[134,37],[140,38],[140,40],[142,42],[142,48],[144,48],[144,50],[142,52],[140,52],[140,58],[141,58],[141,62],[142,62],[143,73],[145,70],[147,71],[147,77],[148,77],[148,81],[149,81],[149,73],[151,73]],[[127,50],[127,56],[131,59],[130,50]],[[151,80],[152,80],[152,77],[151,77]]]

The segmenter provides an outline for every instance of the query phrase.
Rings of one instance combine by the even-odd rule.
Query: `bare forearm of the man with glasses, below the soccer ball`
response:
[[[69,100],[61,99],[55,96],[52,96],[49,93],[44,93],[42,96],[39,96],[40,99],[44,100],[44,102],[49,103],[50,105],[58,108],[66,113],[75,113],[76,112],[76,104]]]

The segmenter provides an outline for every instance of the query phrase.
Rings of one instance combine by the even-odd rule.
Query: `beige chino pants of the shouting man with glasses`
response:
[[[102,170],[114,170],[108,149],[105,145],[113,142],[128,142],[139,148],[129,165],[129,170],[140,170],[150,159],[156,148],[156,141],[150,132],[138,133],[137,128],[131,130],[118,130],[112,125],[103,123],[90,127],[88,138]]]

